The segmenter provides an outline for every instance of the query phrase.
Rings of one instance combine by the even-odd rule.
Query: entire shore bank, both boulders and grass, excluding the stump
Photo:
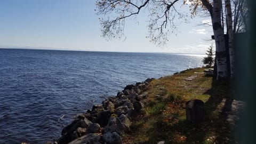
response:
[[[127,85],[77,115],[54,143],[238,143],[245,102],[235,99],[234,85],[214,81],[204,69]],[[185,105],[193,99],[204,102],[201,124],[186,120]]]

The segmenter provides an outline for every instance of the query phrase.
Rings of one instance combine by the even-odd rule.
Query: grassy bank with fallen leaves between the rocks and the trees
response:
[[[155,79],[149,84],[146,107],[134,117],[124,143],[236,143],[233,121],[227,121],[234,101],[227,82],[205,76],[204,68],[182,71]],[[197,75],[192,81],[184,79]],[[201,125],[186,121],[185,103],[191,99],[205,102],[206,118]],[[236,122],[234,122],[236,123]]]

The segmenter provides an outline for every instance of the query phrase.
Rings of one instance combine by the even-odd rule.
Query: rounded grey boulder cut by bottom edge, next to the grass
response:
[[[106,144],[122,144],[120,135],[116,132],[107,132],[102,135],[102,138]]]

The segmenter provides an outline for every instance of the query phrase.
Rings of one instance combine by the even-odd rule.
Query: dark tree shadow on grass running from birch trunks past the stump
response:
[[[205,121],[195,125],[184,120],[171,126],[170,129],[186,138],[182,141],[181,137],[175,143],[234,143],[231,126],[226,121],[234,100],[230,83],[213,80],[211,89],[204,94],[210,95],[205,102]]]

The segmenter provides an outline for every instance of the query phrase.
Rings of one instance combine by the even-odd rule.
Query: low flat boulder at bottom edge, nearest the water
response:
[[[102,135],[98,133],[89,133],[86,135],[83,135],[83,137],[75,139],[68,144],[101,144],[102,142]]]

